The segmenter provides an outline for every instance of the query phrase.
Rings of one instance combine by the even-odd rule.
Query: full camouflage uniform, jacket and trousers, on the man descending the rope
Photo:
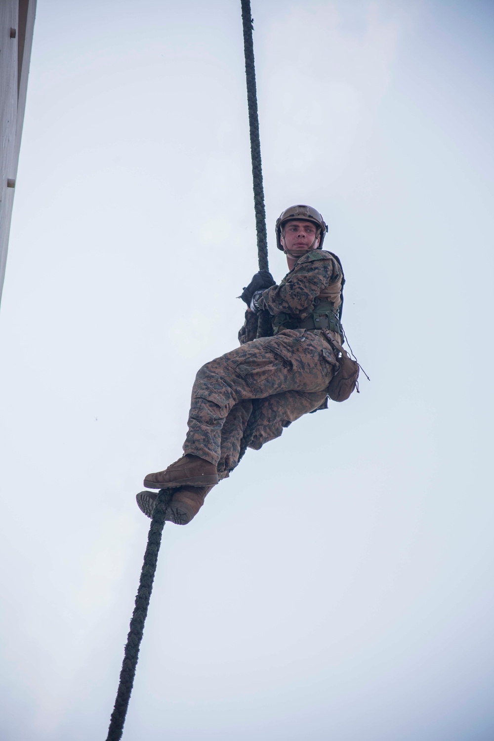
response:
[[[257,316],[247,311],[238,333],[241,347],[198,371],[184,453],[216,464],[225,478],[237,465],[251,415],[255,422],[247,444],[258,450],[302,414],[327,407],[326,389],[338,364],[326,338],[341,342],[341,336],[335,328],[298,325],[321,298],[338,308],[341,279],[331,253],[313,250],[298,259],[280,285],[262,292],[260,304],[270,312],[274,336],[254,339]]]

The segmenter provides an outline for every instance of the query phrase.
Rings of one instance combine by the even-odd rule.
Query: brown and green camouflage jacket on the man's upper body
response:
[[[326,250],[312,250],[296,262],[279,285],[263,290],[259,305],[271,315],[274,333],[298,326],[319,302],[329,302],[337,313],[341,305],[343,273],[335,257]],[[245,313],[238,333],[241,345],[256,338],[257,315]]]

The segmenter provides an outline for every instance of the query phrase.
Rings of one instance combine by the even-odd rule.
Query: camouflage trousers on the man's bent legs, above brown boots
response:
[[[330,345],[303,329],[246,342],[206,363],[193,385],[184,453],[215,463],[224,478],[237,465],[253,400],[248,447],[258,450],[324,403],[336,367]]]

